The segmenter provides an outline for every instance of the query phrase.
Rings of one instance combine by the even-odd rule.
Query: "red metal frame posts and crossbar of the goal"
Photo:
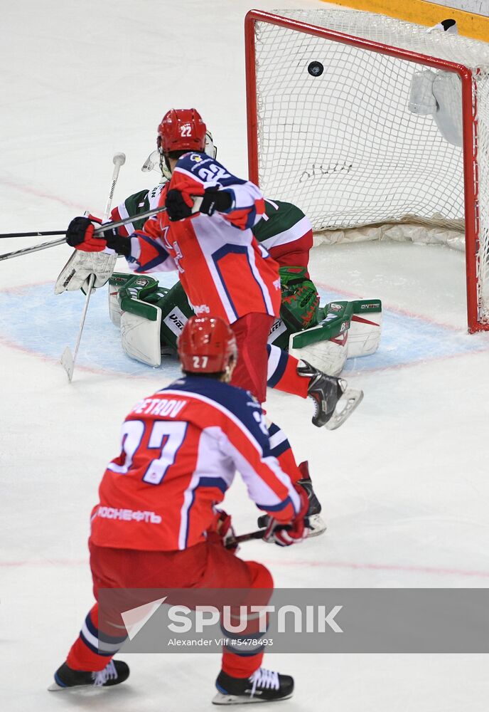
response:
[[[250,10],[244,19],[244,50],[247,96],[247,138],[249,180],[259,184],[257,74],[255,63],[255,23],[267,22],[279,27],[350,45],[369,52],[377,52],[434,69],[458,74],[462,85],[463,125],[463,193],[466,244],[466,293],[468,332],[489,330],[489,323],[480,319],[478,296],[479,202],[478,202],[478,141],[477,98],[473,93],[473,75],[463,64],[395,48],[327,28],[310,25],[260,10]]]

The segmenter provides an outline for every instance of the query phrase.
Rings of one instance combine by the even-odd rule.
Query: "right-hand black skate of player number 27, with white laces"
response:
[[[294,692],[294,678],[259,668],[250,677],[231,677],[220,671],[215,681],[215,705],[240,705],[250,702],[286,700]]]

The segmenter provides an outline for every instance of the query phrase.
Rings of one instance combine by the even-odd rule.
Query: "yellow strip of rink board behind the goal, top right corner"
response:
[[[323,0],[323,2],[326,1]],[[453,18],[456,20],[458,32],[461,35],[489,42],[489,17],[455,10],[425,0],[409,0],[408,2],[406,0],[335,0],[335,4],[355,10],[377,12],[398,20],[407,20],[428,27],[436,25],[441,20]]]

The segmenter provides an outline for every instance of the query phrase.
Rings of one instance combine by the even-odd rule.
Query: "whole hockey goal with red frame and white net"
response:
[[[271,198],[296,202],[315,231],[407,220],[427,229],[463,226],[473,333],[489,330],[489,216],[481,231],[479,200],[487,172],[482,196],[489,210],[489,159],[486,167],[484,155],[481,164],[481,149],[487,154],[488,147],[478,137],[481,119],[489,132],[489,113],[486,118],[485,105],[484,115],[479,110],[482,101],[489,103],[489,48],[443,34],[433,38],[426,28],[350,10],[249,11],[249,179]],[[474,66],[474,51],[483,70]],[[464,53],[470,66],[460,61]],[[324,68],[317,77],[308,71],[316,60]],[[431,81],[430,70],[436,80],[446,77],[442,73],[460,78],[461,146],[448,145],[432,116],[409,111],[414,74]],[[412,204],[397,206],[406,195]]]

